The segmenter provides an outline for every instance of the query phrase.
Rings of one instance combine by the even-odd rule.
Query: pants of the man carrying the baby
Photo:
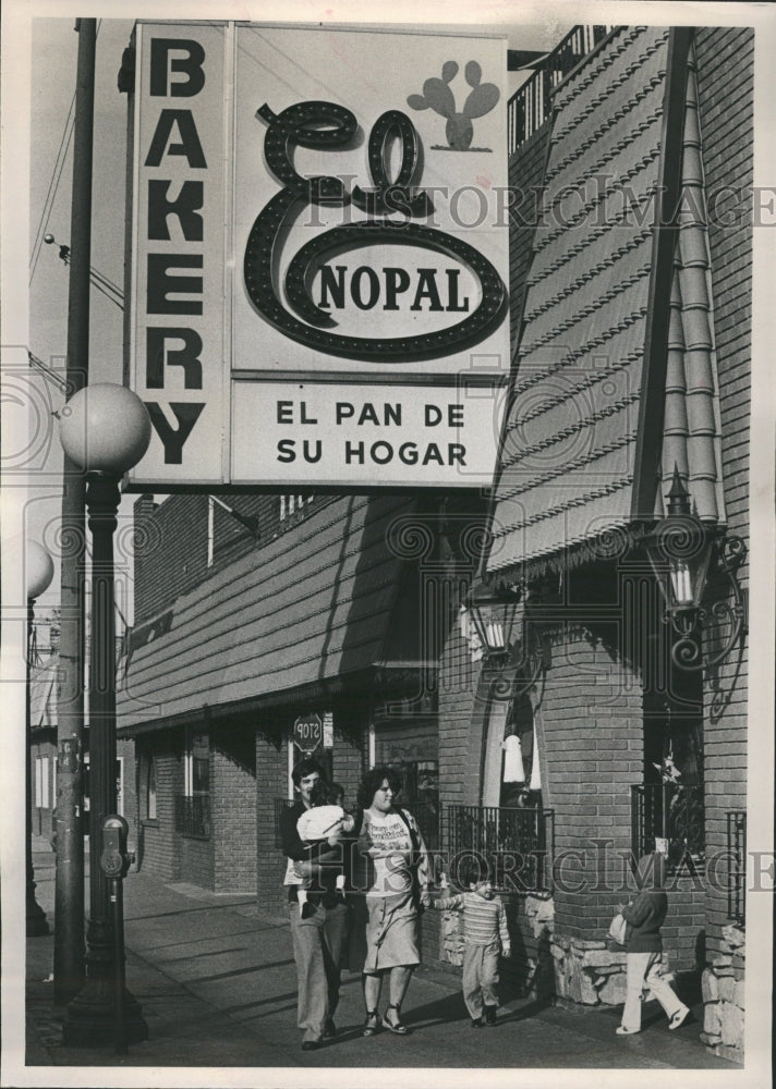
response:
[[[301,917],[299,904],[289,904],[293,957],[296,962],[296,1023],[303,1042],[320,1040],[339,1002],[340,959],[348,938],[348,908],[344,904],[323,907]]]

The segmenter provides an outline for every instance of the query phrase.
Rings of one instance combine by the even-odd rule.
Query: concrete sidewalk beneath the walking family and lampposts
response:
[[[47,846],[36,841],[35,879],[51,922],[54,868]],[[361,979],[343,972],[339,1035],[303,1052],[284,919],[259,916],[248,895],[216,895],[142,872],[130,873],[124,888],[126,983],[148,1040],[128,1055],[62,1047],[64,1012],[53,1005],[50,981],[53,939],[32,938],[27,1066],[738,1068],[703,1048],[698,1010],[669,1032],[655,1003],[645,1007],[644,1031],[627,1039],[615,1036],[619,1010],[575,1012],[520,999],[505,1002],[496,1028],[472,1031],[458,978],[428,968],[415,974],[403,1006],[411,1036],[383,1031],[364,1039]]]

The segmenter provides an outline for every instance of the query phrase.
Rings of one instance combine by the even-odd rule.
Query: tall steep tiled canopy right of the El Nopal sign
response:
[[[555,93],[497,478],[497,582],[659,516],[675,465],[699,516],[724,521],[688,45],[686,30],[620,27]]]

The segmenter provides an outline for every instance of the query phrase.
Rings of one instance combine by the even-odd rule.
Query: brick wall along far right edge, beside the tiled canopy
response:
[[[749,408],[752,276],[752,65],[745,27],[695,32],[703,166],[710,200],[708,243],[722,417],[727,523],[749,537]],[[744,566],[741,585],[748,582]],[[704,723],[706,854],[727,846],[725,813],[747,805],[747,648],[711,671]],[[727,922],[727,871],[710,885],[706,944],[720,951]]]

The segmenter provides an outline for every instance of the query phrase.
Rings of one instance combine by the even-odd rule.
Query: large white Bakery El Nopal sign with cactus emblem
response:
[[[506,39],[141,22],[133,490],[489,485]]]

